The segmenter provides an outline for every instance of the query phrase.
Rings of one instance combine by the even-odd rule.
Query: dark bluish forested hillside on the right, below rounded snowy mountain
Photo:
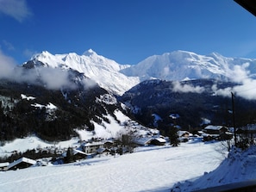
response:
[[[163,133],[171,125],[182,129],[202,127],[207,123],[233,127],[228,88],[235,85],[214,79],[182,82],[155,79],[128,90],[120,101],[129,106],[131,115],[138,121],[148,127],[158,127]],[[235,96],[234,110],[237,126],[256,120],[255,100]]]

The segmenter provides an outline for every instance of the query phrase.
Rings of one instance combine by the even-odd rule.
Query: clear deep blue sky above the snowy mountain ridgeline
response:
[[[256,58],[256,17],[233,0],[0,0],[0,53],[92,48],[120,64],[175,50]]]

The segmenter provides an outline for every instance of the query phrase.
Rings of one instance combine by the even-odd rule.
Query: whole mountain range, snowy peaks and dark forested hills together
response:
[[[1,139],[28,133],[67,139],[74,127],[93,131],[108,115],[117,120],[116,110],[159,129],[197,127],[203,120],[230,125],[231,91],[247,115],[241,124],[255,119],[256,59],[176,51],[121,65],[91,49],[82,55],[44,51],[7,72],[0,77]]]

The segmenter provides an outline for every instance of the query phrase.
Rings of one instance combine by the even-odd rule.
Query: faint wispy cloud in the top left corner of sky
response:
[[[26,0],[0,0],[0,13],[9,15],[18,22],[23,22],[31,15]]]

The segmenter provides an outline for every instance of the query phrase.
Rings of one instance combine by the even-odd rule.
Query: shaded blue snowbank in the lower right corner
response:
[[[191,191],[197,189],[209,189],[227,184],[253,181],[256,178],[256,146],[251,146],[245,152],[233,149],[220,166],[195,181],[177,183],[173,191]],[[237,184],[236,186],[240,186]]]

